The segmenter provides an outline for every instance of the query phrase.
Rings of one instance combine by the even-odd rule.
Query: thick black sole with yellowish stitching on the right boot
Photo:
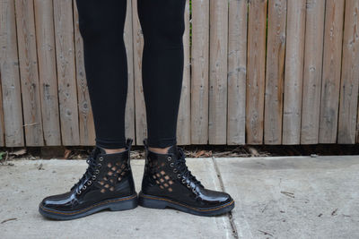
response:
[[[138,195],[138,205],[149,208],[149,209],[178,209],[183,212],[188,212],[198,216],[216,216],[227,213],[234,208],[234,201],[229,201],[223,205],[214,207],[214,208],[195,208],[192,206],[188,206],[178,201],[171,201],[166,198],[146,195],[143,192],[140,192]]]

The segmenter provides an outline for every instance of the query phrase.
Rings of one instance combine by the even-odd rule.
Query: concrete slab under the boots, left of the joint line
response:
[[[188,167],[208,188],[220,190],[212,158],[188,158]],[[66,192],[87,167],[84,160],[13,161],[0,166],[0,238],[232,238],[228,215],[203,218],[173,209],[102,211],[71,221],[52,221],[38,213],[45,196]],[[40,166],[42,165],[42,166]],[[39,169],[40,168],[40,169]],[[144,160],[133,160],[139,192]]]

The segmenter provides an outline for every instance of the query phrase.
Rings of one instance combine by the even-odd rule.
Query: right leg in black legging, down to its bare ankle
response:
[[[148,144],[150,149],[165,152],[177,143],[186,0],[137,0],[137,3],[144,32],[142,80]]]

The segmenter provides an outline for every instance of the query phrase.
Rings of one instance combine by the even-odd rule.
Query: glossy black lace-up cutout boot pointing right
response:
[[[188,170],[183,149],[172,145],[167,154],[148,149],[144,139],[145,165],[138,204],[153,209],[179,209],[199,216],[215,216],[234,208],[225,192],[207,190]]]

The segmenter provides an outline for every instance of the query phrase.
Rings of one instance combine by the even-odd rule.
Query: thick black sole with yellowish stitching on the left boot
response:
[[[103,209],[109,209],[112,211],[127,210],[135,209],[137,205],[138,199],[136,193],[134,195],[123,198],[100,201],[90,207],[75,211],[60,211],[55,209],[48,209],[43,207],[42,205],[39,205],[39,213],[46,218],[56,220],[71,220],[75,218],[83,218]]]

